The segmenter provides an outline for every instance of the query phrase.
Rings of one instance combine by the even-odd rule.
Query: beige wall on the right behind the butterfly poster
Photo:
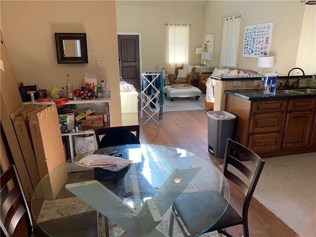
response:
[[[307,6],[309,7],[309,6]],[[314,7],[314,6],[310,6]],[[242,45],[245,26],[274,22],[270,55],[275,55],[274,68],[280,74],[286,74],[295,67],[298,43],[301,34],[305,4],[300,1],[206,1],[203,8],[202,34],[215,33],[214,61],[212,66],[219,66],[222,39],[222,21],[228,16],[240,14],[240,38],[237,67],[260,71],[257,58],[242,57]],[[201,42],[204,42],[202,36]]]

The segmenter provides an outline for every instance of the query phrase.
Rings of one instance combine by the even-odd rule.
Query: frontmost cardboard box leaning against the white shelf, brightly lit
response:
[[[40,178],[43,179],[59,165],[42,186],[45,199],[55,199],[67,180],[64,148],[60,133],[56,105],[38,109],[29,114],[30,129],[39,167]],[[40,111],[39,111],[40,110]]]

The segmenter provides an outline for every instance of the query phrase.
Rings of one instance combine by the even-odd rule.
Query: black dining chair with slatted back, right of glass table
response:
[[[233,153],[236,151],[237,153]],[[237,158],[233,157],[231,154],[241,154],[248,160],[252,161],[256,169],[252,172],[248,169],[244,163],[240,162]],[[229,167],[230,164],[230,168]],[[227,237],[232,237],[230,234],[227,233],[226,228],[242,225],[243,226],[243,237],[249,237],[248,231],[248,209],[250,200],[252,198],[253,192],[256,188],[258,183],[260,174],[262,172],[263,166],[265,161],[262,160],[257,154],[249,150],[248,148],[240,145],[239,143],[227,139],[226,143],[226,150],[224,156],[224,163],[223,163],[223,174],[224,176],[232,181],[237,187],[242,191],[245,195],[243,206],[242,206],[242,215],[240,216],[237,211],[228,204],[226,211],[224,214],[219,218],[219,220],[211,226],[209,229],[205,230],[205,233],[217,231]],[[236,171],[232,171],[237,169],[239,175]],[[243,177],[241,177],[243,176]],[[244,182],[244,180],[248,180],[249,182]],[[198,208],[198,205],[202,200],[207,198],[207,204],[200,212],[192,211]],[[222,201],[220,201],[222,199]],[[216,204],[214,204],[216,200]],[[190,206],[188,208],[188,205]],[[218,208],[218,205],[223,205],[223,208]],[[224,197],[221,194],[221,190],[219,192],[202,192],[202,193],[184,193],[181,194],[173,203],[172,210],[171,210],[171,217],[170,217],[170,224],[169,224],[169,236],[172,237],[173,232],[173,222],[174,218],[179,225],[181,232],[184,236],[197,236],[201,234],[203,231],[202,227],[210,226],[212,223],[208,224],[208,220],[214,219],[212,215],[219,215],[219,211],[225,209],[227,205],[227,201],[224,200]],[[217,211],[219,210],[219,211]],[[180,220],[188,230],[189,234],[186,233]]]

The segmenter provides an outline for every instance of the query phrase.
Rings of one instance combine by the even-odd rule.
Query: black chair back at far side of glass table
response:
[[[136,132],[134,135],[132,132]],[[95,130],[95,137],[98,144],[98,149],[126,145],[126,144],[140,144],[139,142],[139,125],[128,125],[118,127],[107,127]],[[100,140],[100,136],[104,135]]]

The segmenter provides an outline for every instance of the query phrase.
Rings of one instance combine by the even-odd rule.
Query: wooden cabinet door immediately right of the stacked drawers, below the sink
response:
[[[283,148],[298,148],[309,146],[314,114],[311,111],[292,112],[286,117]]]

